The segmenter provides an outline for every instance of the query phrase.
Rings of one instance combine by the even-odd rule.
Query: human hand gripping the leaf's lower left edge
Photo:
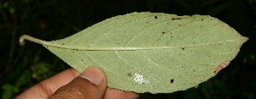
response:
[[[107,88],[106,74],[96,67],[83,73],[67,69],[34,85],[15,99],[136,99],[137,93]]]

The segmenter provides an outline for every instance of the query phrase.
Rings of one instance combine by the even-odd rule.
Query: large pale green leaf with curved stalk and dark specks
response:
[[[247,37],[207,15],[132,13],[106,19],[44,45],[82,72],[96,66],[108,87],[138,93],[170,93],[199,85],[236,57]]]

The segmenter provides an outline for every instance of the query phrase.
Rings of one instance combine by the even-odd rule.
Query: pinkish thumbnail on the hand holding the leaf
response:
[[[102,69],[98,69],[96,67],[89,67],[85,69],[79,77],[84,78],[86,80],[90,80],[91,83],[95,85],[101,85],[104,80],[105,74]]]

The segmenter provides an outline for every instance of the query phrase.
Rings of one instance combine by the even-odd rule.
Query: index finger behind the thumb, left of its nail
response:
[[[32,86],[28,90],[16,96],[15,99],[46,99],[53,95],[57,89],[63,85],[67,85],[71,80],[79,76],[79,72],[75,69],[67,69],[55,76],[44,80],[37,85]]]

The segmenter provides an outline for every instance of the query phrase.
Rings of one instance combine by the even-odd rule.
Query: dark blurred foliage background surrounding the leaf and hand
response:
[[[132,12],[207,14],[249,37],[230,65],[197,88],[140,98],[255,99],[256,0],[0,0],[0,95],[13,98],[28,87],[70,68],[41,45],[19,37],[53,41],[90,25]]]

